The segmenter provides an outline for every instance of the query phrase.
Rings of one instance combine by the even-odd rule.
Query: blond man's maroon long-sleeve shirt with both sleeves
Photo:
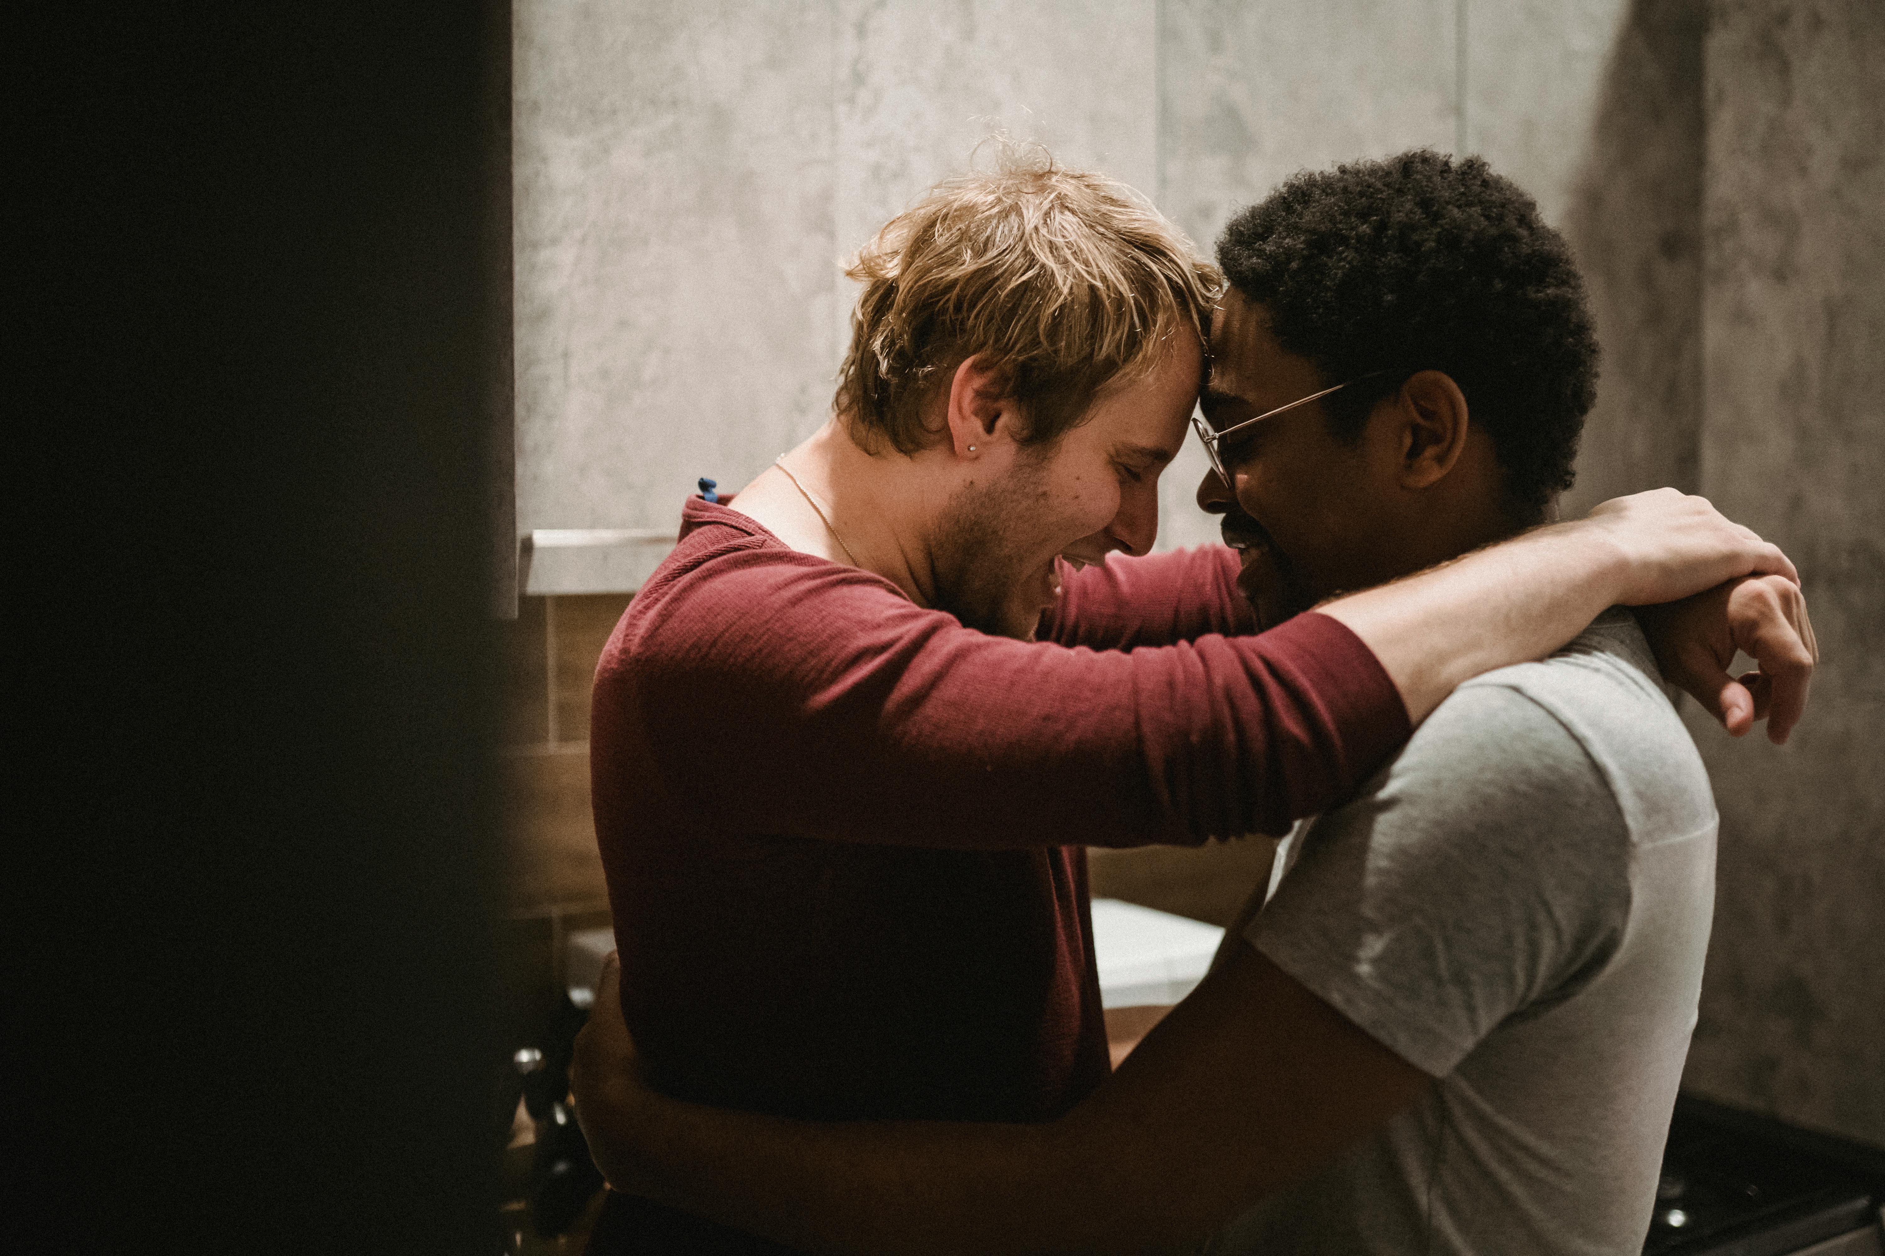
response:
[[[1263,635],[1221,546],[1065,571],[1035,644],[690,499],[596,670],[622,1009],[675,1096],[1050,1119],[1106,1075],[1084,845],[1280,832],[1410,734],[1374,655]],[[592,1250],[777,1250],[611,1200]]]

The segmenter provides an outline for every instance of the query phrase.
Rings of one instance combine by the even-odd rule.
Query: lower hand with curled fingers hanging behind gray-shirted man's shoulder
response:
[[[1636,620],[1664,680],[1685,689],[1730,736],[1766,719],[1768,740],[1785,744],[1806,710],[1819,663],[1798,584],[1744,576],[1680,603],[1638,606]],[[1736,650],[1746,650],[1757,670],[1729,676]]]

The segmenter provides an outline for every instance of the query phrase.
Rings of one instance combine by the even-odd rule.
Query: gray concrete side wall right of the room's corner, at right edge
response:
[[[1689,1085],[1885,1143],[1885,9],[1717,2],[1700,490],[1800,565],[1825,653],[1785,751],[1698,736],[1721,804]]]

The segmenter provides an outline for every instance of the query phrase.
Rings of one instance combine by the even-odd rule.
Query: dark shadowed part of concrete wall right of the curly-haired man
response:
[[[1885,8],[1631,4],[1565,230],[1604,346],[1566,512],[1710,497],[1823,652],[1785,748],[1685,706],[1721,859],[1683,1081],[1885,1145]]]

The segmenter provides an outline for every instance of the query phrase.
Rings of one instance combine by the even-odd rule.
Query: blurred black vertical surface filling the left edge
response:
[[[13,1241],[488,1248],[507,6],[141,8],[15,13]]]

